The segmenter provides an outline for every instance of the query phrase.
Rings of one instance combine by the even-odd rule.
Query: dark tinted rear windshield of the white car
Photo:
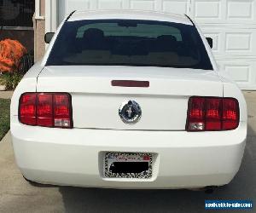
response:
[[[78,20],[61,28],[47,66],[166,66],[212,70],[195,26],[154,20]]]

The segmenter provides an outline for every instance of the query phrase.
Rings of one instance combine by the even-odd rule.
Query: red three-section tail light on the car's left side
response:
[[[20,123],[44,127],[73,128],[71,95],[25,93],[20,96]]]

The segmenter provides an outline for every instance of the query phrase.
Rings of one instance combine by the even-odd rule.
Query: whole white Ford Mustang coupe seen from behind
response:
[[[77,11],[52,36],[11,102],[15,159],[27,181],[199,188],[233,179],[246,102],[189,17]]]

